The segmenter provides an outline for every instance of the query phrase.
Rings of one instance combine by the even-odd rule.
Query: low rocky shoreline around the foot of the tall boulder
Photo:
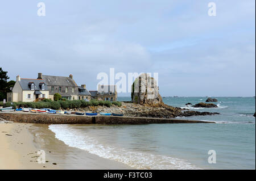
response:
[[[174,118],[174,117],[188,117],[188,116],[201,116],[201,115],[216,115],[217,112],[199,112],[189,111],[179,107],[172,107],[166,104],[135,104],[135,103],[124,103],[118,107],[113,105],[112,107],[106,106],[89,106],[86,108],[80,108],[78,110],[69,110],[77,112],[111,112],[121,113],[123,116],[132,117],[156,117],[156,118]]]

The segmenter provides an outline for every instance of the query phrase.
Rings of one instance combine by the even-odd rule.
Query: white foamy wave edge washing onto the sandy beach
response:
[[[68,146],[86,150],[102,158],[125,163],[136,169],[200,169],[183,159],[103,144],[97,138],[88,136],[86,132],[69,125],[49,125],[49,129],[55,133],[57,139]]]

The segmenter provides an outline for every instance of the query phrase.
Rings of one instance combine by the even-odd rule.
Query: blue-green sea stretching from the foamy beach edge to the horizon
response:
[[[205,102],[206,97],[167,96],[163,102],[193,111],[219,112],[177,118],[216,124],[62,124],[49,125],[49,129],[68,146],[134,169],[255,169],[255,97],[214,98],[217,108],[185,106]]]

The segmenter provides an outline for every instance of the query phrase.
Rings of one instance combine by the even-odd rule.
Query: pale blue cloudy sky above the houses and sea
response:
[[[158,73],[162,96],[255,96],[255,1],[3,1],[0,67],[10,80],[72,74],[88,90],[114,68]]]

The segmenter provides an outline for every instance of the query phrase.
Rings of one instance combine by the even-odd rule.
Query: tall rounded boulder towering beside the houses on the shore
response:
[[[149,74],[143,73],[133,82],[131,100],[137,104],[161,104],[163,99],[158,90],[156,80]]]

